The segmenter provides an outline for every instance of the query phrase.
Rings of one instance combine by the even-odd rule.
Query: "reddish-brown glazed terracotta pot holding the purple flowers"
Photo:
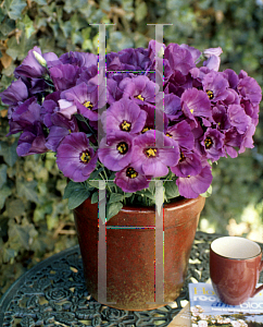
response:
[[[205,198],[199,196],[164,206],[164,302],[175,301],[179,295],[204,202]],[[91,204],[88,198],[74,209],[74,217],[87,289],[99,301],[98,204]],[[107,227],[113,226],[118,228],[107,229],[108,303],[103,304],[130,311],[165,305],[154,303],[155,231],[149,228],[155,226],[154,207],[126,206],[107,222]]]

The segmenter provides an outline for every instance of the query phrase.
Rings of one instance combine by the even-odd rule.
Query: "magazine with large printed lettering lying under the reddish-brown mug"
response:
[[[198,282],[189,283],[189,299],[191,327],[263,327],[263,291],[240,305],[228,305],[211,283]]]

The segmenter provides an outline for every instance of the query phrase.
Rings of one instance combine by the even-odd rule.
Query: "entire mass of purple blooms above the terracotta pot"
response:
[[[161,48],[163,59],[155,56]],[[75,182],[98,164],[115,172],[124,192],[171,172],[181,196],[197,197],[212,182],[209,161],[252,148],[259,121],[261,87],[245,71],[220,72],[221,53],[151,40],[147,49],[107,55],[105,83],[96,55],[58,58],[35,47],[0,94],[8,135],[22,132],[20,156],[55,152],[59,169]],[[164,66],[163,93],[155,60]]]

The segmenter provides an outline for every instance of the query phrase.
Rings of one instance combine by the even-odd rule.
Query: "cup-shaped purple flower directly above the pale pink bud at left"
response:
[[[57,90],[65,90],[76,85],[79,68],[72,64],[59,64],[50,68],[50,77]]]

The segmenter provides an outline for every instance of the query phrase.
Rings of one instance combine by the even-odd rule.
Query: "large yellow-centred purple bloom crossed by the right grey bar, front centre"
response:
[[[163,138],[163,147],[156,148],[156,137]],[[175,141],[160,131],[148,131],[135,138],[130,166],[146,175],[163,177],[168,173],[167,166],[175,166],[179,157]]]

